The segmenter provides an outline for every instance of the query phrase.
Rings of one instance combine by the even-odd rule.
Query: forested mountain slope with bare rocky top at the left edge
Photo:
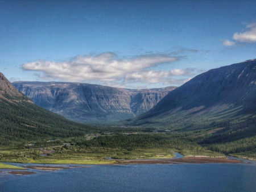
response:
[[[88,128],[36,106],[0,73],[0,145],[80,136]]]

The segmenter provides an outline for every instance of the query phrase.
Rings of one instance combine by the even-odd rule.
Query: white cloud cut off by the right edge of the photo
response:
[[[256,42],[256,23],[248,24],[245,32],[236,32],[233,39],[240,42]]]

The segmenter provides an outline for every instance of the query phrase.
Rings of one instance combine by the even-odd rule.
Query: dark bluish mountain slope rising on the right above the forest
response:
[[[256,59],[196,76],[129,123],[206,128],[244,122],[255,115]]]

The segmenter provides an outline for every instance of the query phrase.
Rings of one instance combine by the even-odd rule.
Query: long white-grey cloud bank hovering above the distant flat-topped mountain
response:
[[[190,76],[193,69],[154,70],[155,66],[170,64],[177,57],[143,55],[120,59],[112,52],[100,55],[78,55],[69,61],[38,60],[23,64],[24,70],[42,72],[42,78],[68,82],[87,82],[102,85],[156,84],[174,82],[174,76]],[[184,80],[183,80],[184,81]]]

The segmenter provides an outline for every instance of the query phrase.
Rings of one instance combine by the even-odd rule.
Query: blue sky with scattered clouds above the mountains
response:
[[[256,1],[0,1],[10,81],[180,86],[256,58]]]

